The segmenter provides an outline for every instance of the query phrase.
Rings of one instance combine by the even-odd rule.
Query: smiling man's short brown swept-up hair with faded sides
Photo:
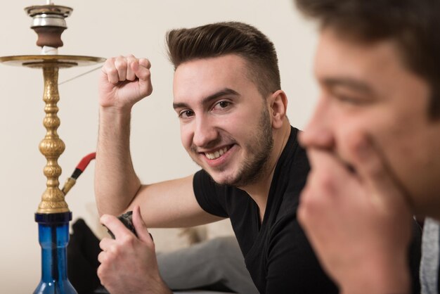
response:
[[[249,77],[261,95],[280,89],[278,58],[272,42],[245,23],[213,23],[167,34],[169,59],[176,69],[186,61],[236,54],[246,60]]]

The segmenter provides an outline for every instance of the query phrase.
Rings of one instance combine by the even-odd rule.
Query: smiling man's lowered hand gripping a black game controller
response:
[[[122,217],[124,221],[127,218],[129,214]],[[98,255],[101,283],[112,294],[172,293],[160,277],[153,238],[141,218],[139,207],[134,207],[132,213],[134,231],[127,229],[124,221],[112,215],[101,217],[101,223],[114,236],[113,239],[103,238],[99,243],[103,250]]]

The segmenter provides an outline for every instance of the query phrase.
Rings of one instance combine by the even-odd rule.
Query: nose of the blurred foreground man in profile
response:
[[[333,148],[331,111],[328,101],[320,98],[304,132],[299,134],[299,143],[304,148]]]

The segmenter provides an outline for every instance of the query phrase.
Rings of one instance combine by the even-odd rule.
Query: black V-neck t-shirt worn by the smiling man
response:
[[[276,165],[262,224],[257,203],[245,191],[216,184],[204,170],[193,181],[200,206],[231,219],[246,267],[261,294],[337,293],[297,222],[299,194],[309,172],[298,132],[291,128]]]

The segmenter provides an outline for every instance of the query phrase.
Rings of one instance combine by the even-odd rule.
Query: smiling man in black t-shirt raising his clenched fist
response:
[[[106,214],[101,222],[116,238],[101,242],[103,285],[110,293],[169,293],[146,227],[228,217],[260,293],[337,293],[296,219],[309,163],[286,117],[271,41],[250,25],[217,23],[174,30],[167,43],[181,141],[202,170],[141,184],[131,164],[129,123],[132,106],[152,91],[150,62],[107,60],[100,80],[96,201]],[[127,210],[134,210],[138,238],[111,216]]]

